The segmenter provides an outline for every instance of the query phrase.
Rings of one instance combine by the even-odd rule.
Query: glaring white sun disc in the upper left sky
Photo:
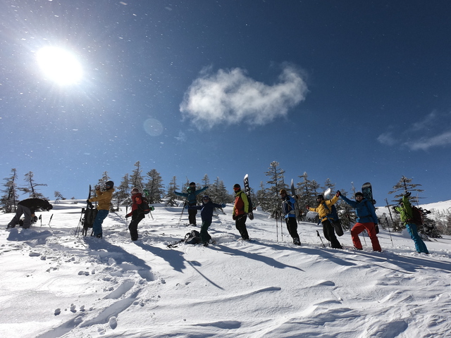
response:
[[[68,51],[58,47],[43,47],[37,51],[37,63],[44,75],[58,84],[73,84],[82,77],[82,67]]]

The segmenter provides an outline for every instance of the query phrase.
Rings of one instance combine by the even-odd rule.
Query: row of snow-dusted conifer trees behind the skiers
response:
[[[137,161],[134,165],[134,169],[131,173],[125,174],[121,178],[121,182],[116,184],[116,191],[113,194],[113,201],[116,209],[121,205],[130,204],[130,191],[133,187],[137,187],[142,191],[145,190],[147,199],[150,204],[165,203],[166,205],[175,206],[177,201],[180,200],[178,196],[174,194],[175,191],[180,192],[180,187],[182,187],[181,192],[186,192],[186,184],[178,184],[177,177],[173,176],[171,181],[168,183],[167,187],[164,186],[163,180],[160,173],[156,169],[149,170],[143,175],[143,168],[140,161]],[[286,189],[289,194],[290,187],[288,182],[285,182],[285,170],[280,168],[280,164],[277,161],[270,163],[268,170],[264,173],[268,179],[266,182],[260,182],[259,189],[257,192],[251,191],[252,201],[254,207],[260,207],[262,211],[270,214],[270,217],[275,218],[280,215],[281,204],[280,204],[280,189]],[[335,189],[335,183],[333,183],[329,178],[320,184],[316,180],[309,179],[307,173],[299,175],[299,181],[295,184],[295,194],[299,197],[299,208],[302,211],[301,220],[303,221],[317,221],[314,215],[306,213],[307,206],[316,206],[316,196],[318,194],[323,194],[326,189],[330,188],[333,192]],[[25,184],[18,184],[18,173],[16,169],[11,169],[11,175],[6,177],[6,183],[4,184],[4,189],[1,190],[4,194],[0,197],[0,207],[4,213],[11,213],[16,211],[16,205],[19,201],[19,192],[22,194],[28,194],[29,198],[41,198],[48,199],[38,192],[40,186],[47,186],[47,184],[37,183],[34,180],[33,173],[30,171],[25,174]],[[99,178],[97,184],[103,186],[106,181],[111,180],[108,172],[104,172]],[[216,203],[231,203],[234,200],[234,196],[228,193],[226,186],[223,181],[216,177],[216,180],[211,182],[208,175],[204,175],[201,182],[196,182],[198,187],[208,187],[205,194],[208,194],[213,201]],[[94,194],[94,189],[92,188],[92,194]],[[422,197],[418,196],[419,193],[424,192],[423,189],[419,189],[421,184],[414,184],[412,178],[407,178],[402,176],[400,180],[393,186],[393,190],[388,192],[388,194],[395,194],[394,199],[389,204],[388,200],[385,199],[386,206],[390,210],[390,217],[383,214],[381,218],[382,227],[391,227],[394,231],[400,231],[404,228],[404,225],[400,222],[399,216],[394,211],[394,206],[399,204],[400,199],[406,192],[411,192],[412,204],[418,204],[419,199]],[[357,190],[354,184],[351,182],[350,191],[347,192],[346,189],[339,189],[342,194],[348,196],[349,198],[354,198],[355,192]],[[415,194],[416,193],[416,194]],[[55,191],[54,196],[56,200],[66,199],[61,192]],[[74,197],[72,198],[74,199]],[[202,196],[198,196],[199,203],[201,203]],[[336,204],[338,209],[338,215],[342,221],[343,227],[349,229],[355,223],[354,210],[349,204],[344,203],[339,200]],[[392,212],[393,210],[393,212]],[[440,215],[440,227],[437,229],[435,225],[435,220],[427,217],[424,213],[424,228],[419,229],[420,232],[428,234],[431,237],[438,237],[439,233],[451,234],[451,215]],[[448,226],[449,225],[449,226]]]

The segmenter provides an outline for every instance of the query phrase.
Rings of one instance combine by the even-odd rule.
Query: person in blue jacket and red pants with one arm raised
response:
[[[371,201],[364,197],[362,192],[355,193],[355,201],[347,199],[340,192],[337,193],[343,201],[352,206],[355,209],[355,215],[357,216],[357,223],[351,229],[352,244],[357,250],[362,250],[362,243],[359,239],[359,233],[368,232],[369,238],[371,239],[371,244],[373,246],[373,251],[382,251],[381,244],[379,244],[379,239],[376,236],[376,225],[378,224],[378,216],[376,216],[376,211],[374,209]]]

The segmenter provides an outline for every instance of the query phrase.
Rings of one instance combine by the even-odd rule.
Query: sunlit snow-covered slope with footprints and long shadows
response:
[[[218,244],[168,249],[192,230],[182,208],[157,205],[131,242],[125,211],[103,239],[75,237],[85,205],[72,203],[1,230],[0,337],[450,337],[451,237],[426,242],[427,256],[383,229],[382,253],[368,237],[353,251],[345,232],[338,250],[301,223],[299,247],[257,211],[241,242],[228,205],[211,225]]]

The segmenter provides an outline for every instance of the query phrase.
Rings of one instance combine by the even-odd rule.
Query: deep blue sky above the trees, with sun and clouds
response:
[[[232,192],[246,173],[258,189],[278,161],[287,182],[369,181],[378,204],[402,175],[424,203],[451,198],[449,1],[1,8],[1,178],[32,171],[51,199],[85,198],[140,161],[163,184],[207,174]],[[39,54],[49,46],[70,57]],[[81,73],[49,73],[70,58]]]

